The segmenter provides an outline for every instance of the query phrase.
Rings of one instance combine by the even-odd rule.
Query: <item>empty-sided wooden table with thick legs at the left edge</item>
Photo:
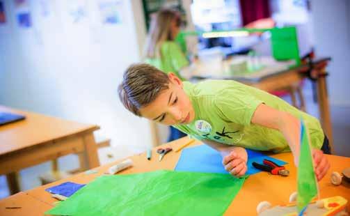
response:
[[[17,171],[63,155],[79,155],[81,169],[100,166],[93,137],[99,126],[3,106],[0,111],[26,116],[24,121],[0,126],[0,175],[6,174],[11,194],[19,192]]]

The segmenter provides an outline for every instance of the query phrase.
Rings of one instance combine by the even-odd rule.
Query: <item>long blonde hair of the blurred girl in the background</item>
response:
[[[174,40],[170,25],[175,19],[177,26],[180,26],[180,14],[176,10],[162,9],[152,17],[150,31],[145,45],[145,57],[160,57],[160,47],[166,40]]]

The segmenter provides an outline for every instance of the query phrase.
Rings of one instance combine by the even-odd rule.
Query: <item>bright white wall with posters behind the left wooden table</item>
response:
[[[17,26],[13,1],[5,1],[0,104],[100,125],[95,134],[111,138],[112,145],[150,146],[148,122],[126,111],[117,91],[127,65],[140,61],[140,20],[134,19],[143,15],[134,16],[133,11],[140,13],[141,3],[121,0],[122,23],[102,25],[95,0],[86,1],[88,17],[81,24],[68,19],[70,0],[51,1],[54,16],[46,23],[38,18],[39,1],[30,1],[31,29]],[[145,32],[141,24],[137,28]]]

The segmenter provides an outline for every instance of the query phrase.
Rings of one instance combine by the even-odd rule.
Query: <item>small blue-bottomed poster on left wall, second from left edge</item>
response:
[[[14,0],[15,1],[15,15],[17,24],[22,28],[30,28],[31,23],[31,10],[28,0]]]

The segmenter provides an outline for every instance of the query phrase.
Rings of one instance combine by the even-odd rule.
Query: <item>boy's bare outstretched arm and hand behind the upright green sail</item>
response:
[[[300,153],[300,121],[298,118],[288,114],[285,111],[273,109],[267,105],[261,104],[255,110],[251,120],[253,124],[262,125],[267,128],[279,130],[284,135],[294,155],[294,164],[299,164]],[[324,153],[320,150],[312,150],[313,160],[315,162],[315,173],[317,180],[323,178],[330,165]]]

